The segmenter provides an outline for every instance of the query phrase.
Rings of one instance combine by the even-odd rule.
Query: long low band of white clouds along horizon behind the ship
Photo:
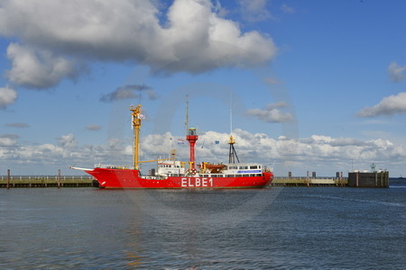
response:
[[[406,166],[406,148],[388,139],[360,140],[323,135],[302,139],[281,136],[273,139],[264,133],[251,133],[246,130],[233,130],[233,137],[240,161],[258,162],[266,166],[275,162],[277,175],[287,175],[287,171],[283,171],[282,167],[299,171],[301,175],[305,175],[306,170],[319,169],[333,175],[338,170],[346,172],[351,169],[352,160],[355,162],[355,168],[361,169],[368,168],[372,162],[390,170]],[[48,166],[93,166],[99,162],[130,166],[132,163],[131,143],[119,139],[110,140],[104,145],[76,147],[78,142],[72,134],[61,136],[60,145],[19,146],[16,143],[17,138],[13,134],[0,136],[0,143],[7,146],[0,147],[0,166],[37,164],[45,170]],[[178,139],[184,140],[185,144],[178,144]],[[197,161],[228,162],[228,139],[229,134],[216,131],[199,134],[196,146]],[[171,148],[177,148],[178,159],[188,160],[188,141],[183,137],[174,137],[169,132],[143,137],[141,158],[149,160],[168,157]],[[362,166],[359,166],[360,164]],[[143,165],[144,168],[147,166]]]

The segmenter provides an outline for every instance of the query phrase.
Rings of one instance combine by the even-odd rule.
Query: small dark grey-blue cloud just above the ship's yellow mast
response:
[[[155,100],[157,99],[157,95],[152,90],[152,87],[148,85],[124,85],[115,89],[115,91],[103,94],[100,97],[101,102],[111,103],[117,100],[123,99],[135,99],[140,97],[140,94],[146,92],[148,99]]]

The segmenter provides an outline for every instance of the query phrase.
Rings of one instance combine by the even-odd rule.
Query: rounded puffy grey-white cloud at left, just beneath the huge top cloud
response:
[[[6,77],[17,85],[29,88],[48,88],[58,85],[64,77],[78,76],[75,64],[66,58],[55,56],[45,49],[32,49],[12,43],[7,48],[12,68]]]

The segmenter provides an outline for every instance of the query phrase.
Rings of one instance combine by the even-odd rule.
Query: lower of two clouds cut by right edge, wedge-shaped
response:
[[[380,115],[392,115],[406,112],[406,92],[393,94],[383,98],[380,103],[372,107],[366,107],[357,113],[358,117],[374,117]]]

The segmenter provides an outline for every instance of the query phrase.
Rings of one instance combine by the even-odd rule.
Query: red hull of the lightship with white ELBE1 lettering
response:
[[[148,179],[139,176],[138,170],[95,168],[86,171],[93,175],[100,187],[105,188],[253,188],[271,184],[273,175],[241,177],[187,177],[169,176],[166,179]]]

